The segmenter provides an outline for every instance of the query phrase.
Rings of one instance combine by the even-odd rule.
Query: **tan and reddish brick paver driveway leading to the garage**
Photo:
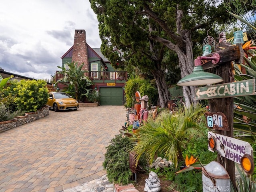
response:
[[[0,133],[0,192],[58,192],[106,174],[124,106],[80,107]]]

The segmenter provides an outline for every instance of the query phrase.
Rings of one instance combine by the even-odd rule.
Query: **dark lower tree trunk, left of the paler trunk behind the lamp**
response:
[[[158,89],[158,96],[160,100],[161,108],[167,108],[168,105],[168,87],[166,85],[164,72],[162,70],[152,72],[154,79],[156,80],[156,86]]]

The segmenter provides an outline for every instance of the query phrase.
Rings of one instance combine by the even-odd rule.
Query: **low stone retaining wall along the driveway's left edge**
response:
[[[0,122],[0,132],[4,132],[23,124],[38,120],[48,116],[49,114],[49,108],[43,107],[42,109],[37,110],[37,112],[25,113],[24,116],[14,117],[13,120],[2,121]]]

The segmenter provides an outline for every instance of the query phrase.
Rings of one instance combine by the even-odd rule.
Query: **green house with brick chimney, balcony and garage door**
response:
[[[94,83],[91,88],[99,91],[100,105],[124,104],[124,84],[127,81],[127,72],[114,70],[110,61],[100,52],[100,48],[91,48],[86,43],[85,30],[75,30],[74,45],[61,59],[62,67],[65,68],[67,62],[84,63],[82,70],[88,71],[86,76]],[[59,72],[56,71],[56,81],[63,76]]]

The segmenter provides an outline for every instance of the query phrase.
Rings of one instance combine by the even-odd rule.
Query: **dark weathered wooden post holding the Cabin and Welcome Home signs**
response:
[[[220,43],[220,47],[228,47],[226,43]],[[228,57],[227,55],[225,55]],[[232,56],[229,56],[232,58]],[[222,63],[221,65],[216,66],[216,68],[211,69],[214,74],[217,74],[218,76],[221,76],[223,78],[222,83],[228,83],[230,81],[230,74],[229,71],[232,68],[231,62],[225,62]],[[215,72],[214,72],[214,71]],[[227,120],[228,120],[228,126],[230,128],[230,131],[222,131],[222,130],[216,130],[217,134],[222,134],[224,136],[232,137],[233,138],[233,107],[234,107],[234,99],[233,97],[229,98],[219,98],[219,99],[209,99],[209,106],[210,106],[210,111],[211,112],[222,112],[223,114],[226,115]],[[236,176],[235,176],[235,164],[232,160],[228,160],[218,154],[218,159],[217,161],[222,164],[229,176],[230,180],[233,184],[233,186],[236,186]]]

